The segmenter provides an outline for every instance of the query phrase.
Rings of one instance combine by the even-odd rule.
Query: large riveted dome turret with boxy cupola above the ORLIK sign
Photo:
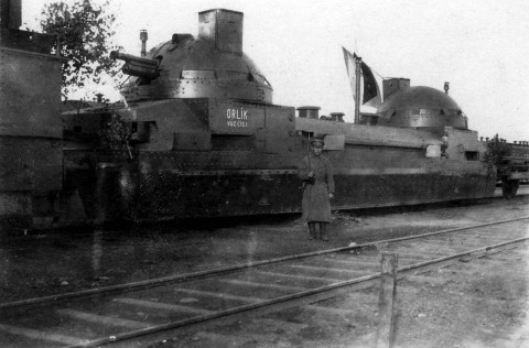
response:
[[[242,13],[209,10],[198,13],[198,20],[197,39],[174,34],[147,53],[143,58],[158,61],[156,75],[143,77],[140,72],[130,77],[121,89],[126,100],[228,98],[272,104],[271,85],[242,52]]]

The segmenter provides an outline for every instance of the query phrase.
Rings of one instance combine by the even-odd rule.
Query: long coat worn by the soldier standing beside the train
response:
[[[309,172],[314,172],[315,182],[309,184]],[[304,181],[303,218],[307,222],[331,222],[331,203],[328,194],[334,194],[333,167],[331,161],[323,154],[316,156],[311,153],[303,159],[299,175]]]

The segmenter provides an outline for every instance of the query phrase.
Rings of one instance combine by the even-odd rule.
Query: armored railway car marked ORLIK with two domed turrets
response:
[[[242,52],[242,13],[215,9],[198,22],[196,39],[174,34],[141,57],[112,53],[130,75],[122,107],[63,115],[65,185],[91,218],[300,211],[298,165],[316,134],[335,167],[334,209],[493,194],[486,143],[446,94],[390,79],[378,112],[356,124],[321,120],[317,107],[296,115],[272,104],[270,83]],[[132,134],[108,151],[98,135],[116,122]]]

